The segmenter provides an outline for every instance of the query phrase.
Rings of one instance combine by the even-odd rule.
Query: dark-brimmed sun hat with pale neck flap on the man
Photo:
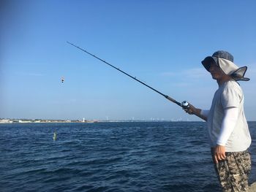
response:
[[[218,50],[212,56],[206,57],[202,61],[202,64],[208,72],[211,64],[216,64],[225,74],[230,75],[230,77],[232,77],[234,80],[248,81],[249,78],[244,77],[247,66],[238,67],[233,63],[233,60],[233,55],[225,50]]]

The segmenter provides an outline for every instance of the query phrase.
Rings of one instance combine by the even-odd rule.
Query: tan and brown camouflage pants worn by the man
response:
[[[249,190],[248,177],[251,171],[251,156],[248,150],[227,152],[226,159],[214,164],[214,168],[223,192]]]

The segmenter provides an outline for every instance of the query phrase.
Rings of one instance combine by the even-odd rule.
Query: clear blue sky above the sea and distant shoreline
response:
[[[0,118],[200,120],[72,42],[177,101],[211,107],[200,61],[227,50],[256,120],[256,1],[0,1]],[[61,83],[64,77],[64,83]]]

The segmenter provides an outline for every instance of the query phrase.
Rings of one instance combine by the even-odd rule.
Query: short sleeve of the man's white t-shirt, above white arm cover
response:
[[[242,93],[241,89],[227,86],[221,95],[222,107],[227,109],[228,107],[239,107],[241,102]]]

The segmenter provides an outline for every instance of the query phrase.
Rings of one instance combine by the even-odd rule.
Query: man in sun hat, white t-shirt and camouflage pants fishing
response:
[[[244,115],[244,94],[238,80],[244,77],[247,67],[233,63],[233,55],[217,51],[202,61],[219,88],[214,94],[210,110],[200,110],[189,104],[185,109],[207,121],[208,136],[214,167],[222,191],[248,191],[251,158],[249,128]]]

